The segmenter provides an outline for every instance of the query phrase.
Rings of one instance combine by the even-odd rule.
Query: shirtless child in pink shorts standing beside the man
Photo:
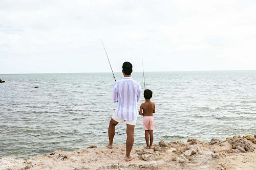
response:
[[[155,129],[153,113],[155,113],[156,107],[155,103],[150,101],[152,93],[153,92],[151,90],[145,89],[144,98],[146,101],[140,105],[140,115],[143,115],[143,126],[145,129],[146,149],[153,148],[153,129]],[[150,145],[148,144],[148,133],[150,134]]]

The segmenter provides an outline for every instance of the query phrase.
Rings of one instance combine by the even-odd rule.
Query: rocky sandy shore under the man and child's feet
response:
[[[54,151],[28,160],[5,157],[0,169],[256,169],[256,136],[234,136],[226,140],[198,139],[184,141],[161,140],[154,149],[133,148],[135,157],[125,162],[125,145],[114,148],[90,148],[76,151]]]

